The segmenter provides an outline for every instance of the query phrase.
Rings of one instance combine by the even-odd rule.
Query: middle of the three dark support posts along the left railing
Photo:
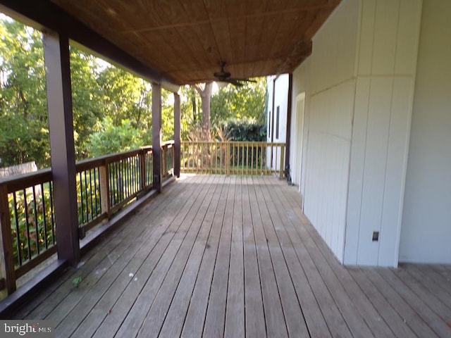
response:
[[[152,84],[152,158],[154,162],[154,188],[161,192],[161,85]]]

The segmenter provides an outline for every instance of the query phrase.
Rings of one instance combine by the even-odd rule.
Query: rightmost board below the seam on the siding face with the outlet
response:
[[[394,80],[378,265],[397,265],[412,93],[412,78]]]

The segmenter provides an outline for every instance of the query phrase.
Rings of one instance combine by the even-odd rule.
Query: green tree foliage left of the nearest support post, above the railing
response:
[[[1,165],[49,163],[47,97],[39,32],[0,20]]]

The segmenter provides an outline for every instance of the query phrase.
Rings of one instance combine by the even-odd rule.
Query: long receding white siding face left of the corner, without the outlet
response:
[[[357,0],[343,1],[315,35],[306,88],[304,213],[340,261],[354,112],[357,5]],[[305,73],[302,68],[295,72],[295,90],[306,84],[299,78]]]

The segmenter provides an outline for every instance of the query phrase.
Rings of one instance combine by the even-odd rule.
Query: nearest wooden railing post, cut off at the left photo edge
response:
[[[0,184],[0,223],[1,245],[0,250],[0,278],[4,279],[6,292],[1,291],[1,298],[16,291],[16,271],[13,260],[13,239],[11,235],[11,218],[8,204],[8,188]]]

